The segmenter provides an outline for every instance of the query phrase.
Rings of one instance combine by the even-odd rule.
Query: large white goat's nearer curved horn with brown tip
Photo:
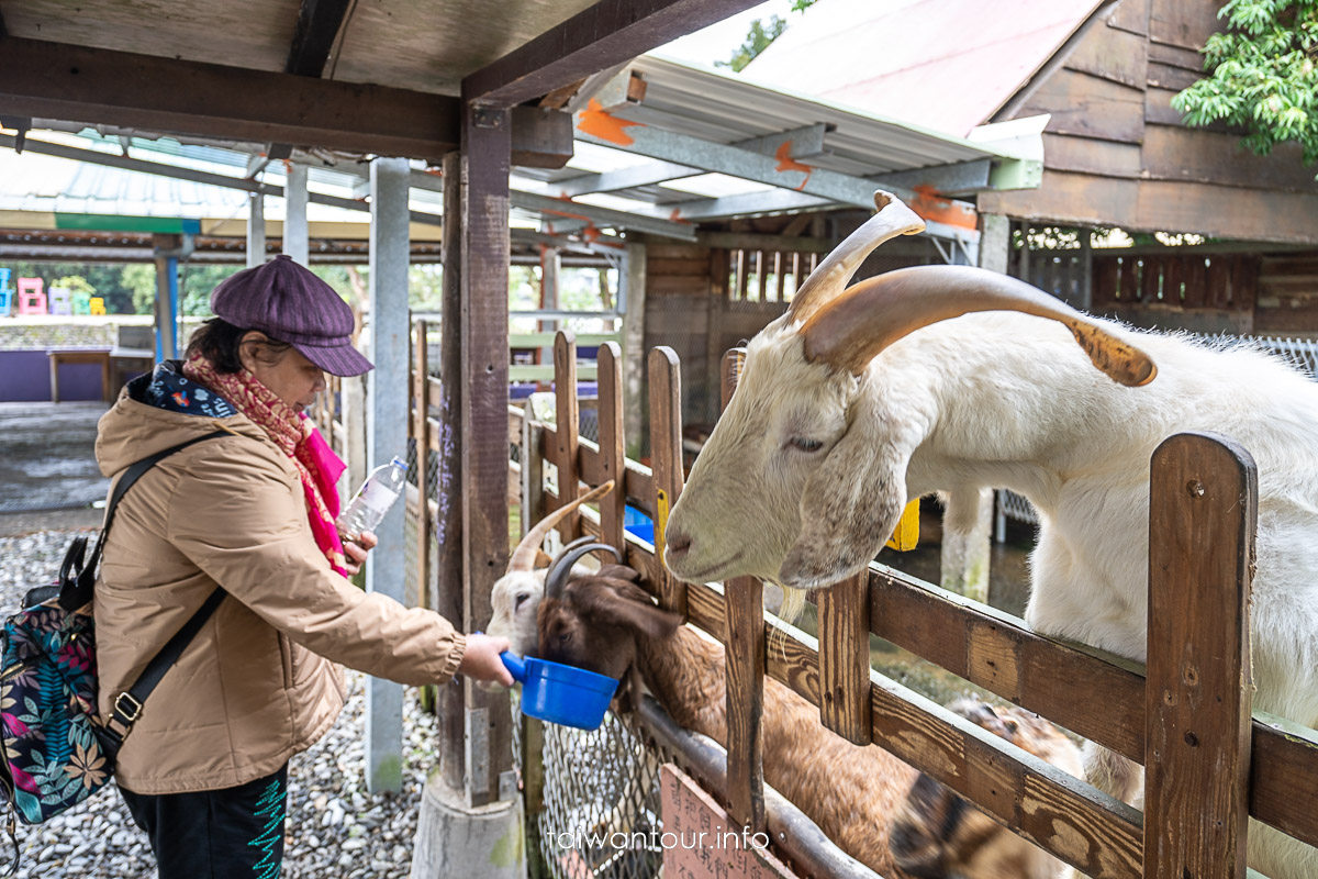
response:
[[[1057,320],[1094,365],[1122,385],[1147,385],[1157,376],[1148,354],[1093,318],[1024,281],[971,266],[898,269],[853,285],[801,327],[805,358],[859,376],[903,336],[971,311],[1020,311]]]

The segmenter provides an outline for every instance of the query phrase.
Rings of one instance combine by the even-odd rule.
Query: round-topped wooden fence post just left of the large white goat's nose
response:
[[[681,364],[667,345],[650,352],[650,453],[655,486],[655,557],[659,559],[659,604],[687,615],[687,584],[663,564],[668,511],[681,496]]]

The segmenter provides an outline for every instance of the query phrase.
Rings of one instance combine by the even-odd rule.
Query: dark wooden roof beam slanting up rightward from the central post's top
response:
[[[700,30],[758,0],[600,0],[463,80],[468,100],[511,107]]]

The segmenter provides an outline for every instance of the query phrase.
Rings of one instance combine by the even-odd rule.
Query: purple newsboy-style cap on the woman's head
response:
[[[374,364],[352,347],[352,308],[293,257],[244,269],[211,293],[216,318],[286,341],[333,376],[360,376]]]

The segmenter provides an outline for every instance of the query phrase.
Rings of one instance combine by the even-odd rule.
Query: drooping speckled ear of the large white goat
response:
[[[779,569],[786,586],[816,589],[862,571],[905,507],[905,469],[919,441],[903,438],[902,420],[863,395],[855,410],[805,484],[801,532]]]

